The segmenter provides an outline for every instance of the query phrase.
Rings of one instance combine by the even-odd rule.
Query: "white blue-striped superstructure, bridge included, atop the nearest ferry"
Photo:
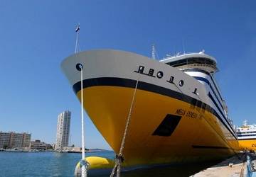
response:
[[[217,61],[214,57],[206,55],[203,51],[167,57],[160,62],[176,67],[201,82],[206,88],[206,93],[208,98],[210,98],[211,105],[214,105],[218,115],[229,125],[230,130],[234,132],[233,120],[228,118],[228,106],[225,104],[217,81],[214,78],[214,74],[218,72]]]

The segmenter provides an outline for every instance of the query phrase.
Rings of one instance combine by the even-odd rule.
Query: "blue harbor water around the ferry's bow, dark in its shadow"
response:
[[[114,158],[114,152],[88,152],[86,156]],[[0,152],[0,176],[74,176],[81,154],[57,152]],[[215,162],[216,163],[216,162]],[[122,171],[123,176],[191,176],[215,163],[158,166]],[[110,176],[110,170],[90,170],[89,176]]]

